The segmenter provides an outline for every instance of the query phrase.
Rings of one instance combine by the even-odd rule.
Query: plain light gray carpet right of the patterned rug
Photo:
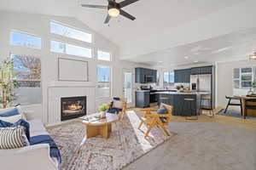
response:
[[[256,170],[256,130],[215,122],[172,122],[177,133],[125,170]]]

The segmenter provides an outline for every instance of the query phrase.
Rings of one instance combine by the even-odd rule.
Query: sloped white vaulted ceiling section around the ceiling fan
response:
[[[119,0],[118,2],[121,2]],[[89,4],[107,4],[107,0],[83,0]],[[168,28],[176,27],[184,22],[196,20],[201,16],[211,14],[220,8],[225,8],[240,0],[140,0],[124,10],[137,19],[127,20],[119,16],[110,21],[110,26],[103,23],[106,11],[95,8],[81,8],[79,20],[91,26],[102,35],[108,37],[119,47],[125,42],[139,41],[144,43],[144,37],[160,34]],[[119,20],[119,22],[118,22]],[[132,46],[132,43],[131,43]]]

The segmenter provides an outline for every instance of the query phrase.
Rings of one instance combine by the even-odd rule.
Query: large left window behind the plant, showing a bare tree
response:
[[[41,103],[41,60],[20,55],[12,55],[11,58],[14,61],[13,77],[19,82],[19,88],[15,88],[15,103],[23,105]]]

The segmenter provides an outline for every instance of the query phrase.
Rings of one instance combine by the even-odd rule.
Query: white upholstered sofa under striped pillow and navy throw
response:
[[[47,133],[39,120],[30,123],[30,136]],[[56,170],[58,161],[49,156],[49,144],[35,144],[12,150],[0,150],[0,169],[4,170]]]

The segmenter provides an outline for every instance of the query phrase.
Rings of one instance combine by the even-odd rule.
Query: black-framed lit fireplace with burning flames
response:
[[[61,98],[61,121],[86,115],[86,96]]]

